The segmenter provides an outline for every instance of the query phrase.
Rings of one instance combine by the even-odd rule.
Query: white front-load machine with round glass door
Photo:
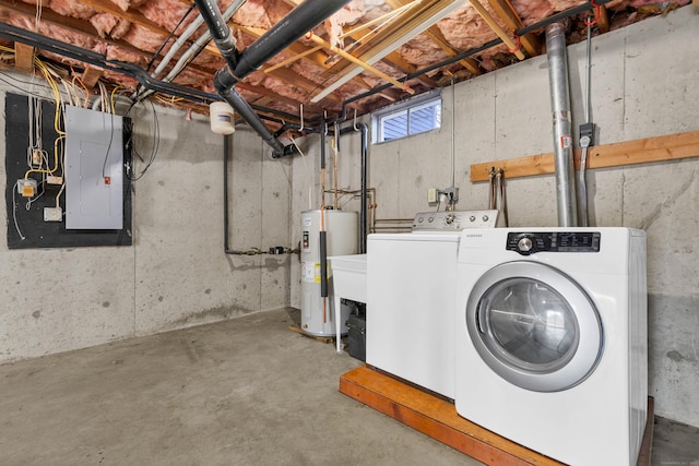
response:
[[[636,465],[648,397],[645,234],[463,231],[457,280],[457,411],[566,464]]]

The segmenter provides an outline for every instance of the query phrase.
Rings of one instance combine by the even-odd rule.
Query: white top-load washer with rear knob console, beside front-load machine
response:
[[[428,212],[412,232],[368,236],[369,366],[453,399],[460,234],[496,222],[497,211]]]

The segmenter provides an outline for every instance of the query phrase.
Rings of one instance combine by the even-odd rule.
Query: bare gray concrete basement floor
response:
[[[479,465],[337,392],[291,309],[0,366],[3,465]],[[654,465],[699,464],[659,419]]]

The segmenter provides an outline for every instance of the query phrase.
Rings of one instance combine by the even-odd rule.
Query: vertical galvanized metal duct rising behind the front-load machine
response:
[[[566,53],[566,28],[562,23],[554,23],[546,27],[546,55],[548,58],[550,107],[554,117],[558,226],[576,227],[578,226],[578,214],[573,181],[568,56]]]

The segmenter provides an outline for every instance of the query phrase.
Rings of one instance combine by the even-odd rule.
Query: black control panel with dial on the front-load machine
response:
[[[597,231],[509,232],[508,251],[522,255],[536,252],[600,252]]]

